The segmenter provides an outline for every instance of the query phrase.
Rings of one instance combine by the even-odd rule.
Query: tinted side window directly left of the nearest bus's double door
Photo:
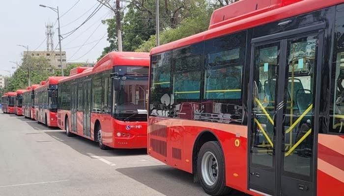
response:
[[[246,31],[204,43],[201,121],[241,123]]]

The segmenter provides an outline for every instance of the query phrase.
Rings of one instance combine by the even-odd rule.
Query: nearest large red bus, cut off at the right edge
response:
[[[152,49],[148,154],[213,196],[343,196],[343,2],[239,0]]]

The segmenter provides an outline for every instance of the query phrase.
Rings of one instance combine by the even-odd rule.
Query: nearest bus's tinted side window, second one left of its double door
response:
[[[173,118],[196,120],[201,110],[201,81],[204,43],[172,51]]]

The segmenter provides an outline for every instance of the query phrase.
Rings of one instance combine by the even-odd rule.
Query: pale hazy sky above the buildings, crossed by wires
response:
[[[45,25],[54,24],[57,21],[57,13],[49,8],[40,7],[39,4],[58,6],[61,34],[64,34],[81,25],[99,3],[97,0],[2,0],[0,11],[1,75],[9,75],[8,71],[11,73],[15,71],[16,64],[9,61],[21,63],[23,51],[26,49],[17,45],[29,46],[30,51],[34,49],[46,51]],[[74,4],[75,6],[70,9]],[[61,46],[62,51],[66,51],[67,62],[95,62],[103,48],[110,45],[106,40],[107,25],[101,24],[101,20],[113,16],[113,12],[103,6],[72,35],[64,38]],[[55,32],[54,48],[56,48],[58,47],[57,23],[53,30]]]

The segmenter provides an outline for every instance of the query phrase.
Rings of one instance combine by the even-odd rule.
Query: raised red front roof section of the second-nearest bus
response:
[[[100,59],[92,72],[98,73],[112,70],[114,66],[145,66],[149,67],[149,52],[110,52]]]

